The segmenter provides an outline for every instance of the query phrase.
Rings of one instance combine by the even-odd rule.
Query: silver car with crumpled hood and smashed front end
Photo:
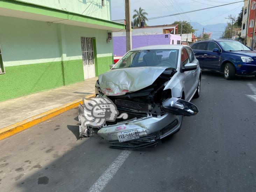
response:
[[[128,117],[90,127],[84,124],[86,104],[79,105],[80,137],[97,133],[111,148],[160,144],[180,129],[183,115],[198,113],[190,100],[199,97],[200,82],[199,62],[187,45],[132,49],[110,71],[100,74],[95,85],[97,97],[108,98],[118,113]]]

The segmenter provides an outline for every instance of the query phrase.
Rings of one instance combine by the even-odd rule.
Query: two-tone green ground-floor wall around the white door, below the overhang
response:
[[[6,71],[0,74],[0,101],[83,81],[81,37],[95,37],[96,75],[109,70],[113,44],[106,42],[107,30],[59,25],[0,16]]]

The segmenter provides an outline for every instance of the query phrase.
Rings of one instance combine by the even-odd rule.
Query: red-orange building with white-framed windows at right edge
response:
[[[249,6],[249,24],[248,24],[248,29],[247,29],[247,46],[251,47],[251,41],[253,38],[253,31],[254,31],[254,22],[255,22],[255,7],[256,7],[256,0],[251,0],[250,1],[250,6]],[[253,43],[253,47],[255,47],[255,43]]]

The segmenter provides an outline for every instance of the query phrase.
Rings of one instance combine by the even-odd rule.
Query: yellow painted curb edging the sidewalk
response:
[[[95,94],[87,95],[85,98],[88,99],[90,97],[94,97]],[[35,115],[31,118],[25,119],[23,121],[17,122],[13,125],[0,129],[0,140],[3,140],[6,137],[12,136],[16,133],[19,133],[29,127],[32,127],[38,123],[51,119],[65,111],[78,107],[79,104],[82,104],[83,100],[78,99],[73,102],[67,103],[60,107],[51,109],[50,111]]]

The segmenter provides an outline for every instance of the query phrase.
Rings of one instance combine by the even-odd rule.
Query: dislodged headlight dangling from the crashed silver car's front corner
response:
[[[191,102],[175,97],[166,99],[163,102],[162,107],[165,112],[170,112],[175,115],[192,116],[199,112],[197,106]]]

